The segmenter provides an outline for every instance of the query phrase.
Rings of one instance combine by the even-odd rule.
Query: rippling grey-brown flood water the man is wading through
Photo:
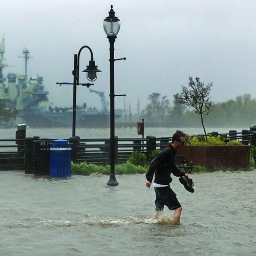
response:
[[[256,255],[256,172],[175,177],[181,225],[154,213],[144,175],[36,178],[1,172],[0,255]]]

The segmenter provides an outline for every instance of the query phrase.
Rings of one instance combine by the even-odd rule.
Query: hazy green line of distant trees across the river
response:
[[[164,114],[158,115],[161,112],[161,99],[164,98],[158,93],[156,95],[157,111],[153,111],[154,104],[152,102],[154,97],[148,97],[150,103],[147,108],[141,112],[141,117],[145,118],[146,122],[153,122],[156,124],[164,122],[168,127],[202,127],[200,118],[194,109],[185,109],[185,105],[177,102],[174,98],[173,106],[168,104],[165,106]],[[179,97],[181,94],[176,94]],[[155,98],[154,98],[155,100]],[[165,101],[168,99],[165,97]],[[163,106],[164,104],[162,104]],[[182,107],[183,106],[183,107]],[[160,113],[159,112],[159,113]],[[161,118],[163,120],[161,121]],[[234,99],[225,102],[215,103],[214,109],[210,115],[204,115],[203,123],[208,127],[246,127],[256,120],[256,99],[252,98],[250,94],[237,96]]]

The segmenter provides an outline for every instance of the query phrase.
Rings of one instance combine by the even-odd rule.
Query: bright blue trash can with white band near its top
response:
[[[71,143],[54,140],[50,144],[50,175],[58,178],[71,177]]]

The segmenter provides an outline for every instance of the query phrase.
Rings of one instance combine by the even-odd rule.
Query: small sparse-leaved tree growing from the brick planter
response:
[[[203,82],[200,82],[199,77],[196,77],[195,81],[192,77],[189,77],[188,79],[188,88],[181,86],[181,94],[175,94],[174,98],[177,102],[194,108],[196,113],[201,116],[201,123],[207,141],[203,115],[208,115],[214,109],[214,103],[210,100],[209,96],[212,82],[205,86]]]

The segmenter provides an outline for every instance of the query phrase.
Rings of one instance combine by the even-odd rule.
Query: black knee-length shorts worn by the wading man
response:
[[[180,202],[177,199],[177,195],[174,193],[170,186],[166,187],[155,187],[156,193],[156,211],[162,211],[164,205],[166,205],[169,210],[176,210],[181,207]]]

